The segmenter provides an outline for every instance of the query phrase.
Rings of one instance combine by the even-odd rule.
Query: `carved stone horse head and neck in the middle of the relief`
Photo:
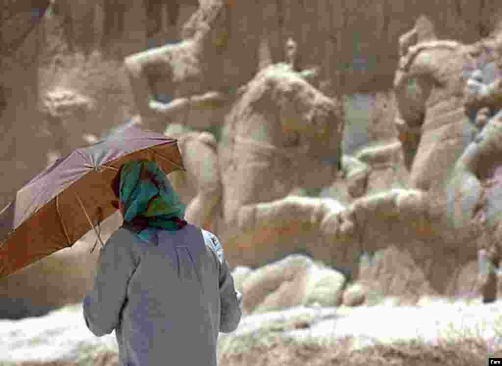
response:
[[[242,187],[238,194],[227,190],[226,204],[268,202],[298,187],[330,185],[341,159],[343,125],[341,106],[289,65],[264,68],[225,118],[224,186]]]

